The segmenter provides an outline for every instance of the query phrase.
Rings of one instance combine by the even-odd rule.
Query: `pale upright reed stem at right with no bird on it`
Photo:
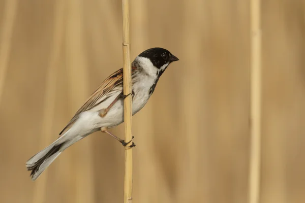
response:
[[[258,203],[261,163],[261,23],[260,0],[251,0],[251,153],[249,202]]]

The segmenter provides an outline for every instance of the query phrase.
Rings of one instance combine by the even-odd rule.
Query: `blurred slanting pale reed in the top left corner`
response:
[[[17,13],[17,1],[7,1],[5,5],[3,14],[3,31],[0,33],[0,104],[8,70],[9,54],[11,52],[11,39],[15,16]]]

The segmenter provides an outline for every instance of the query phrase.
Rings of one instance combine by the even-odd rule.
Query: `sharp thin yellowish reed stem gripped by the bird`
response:
[[[123,0],[123,75],[125,141],[132,139],[131,61],[129,31],[129,0]],[[124,203],[132,202],[132,148],[125,147]]]

